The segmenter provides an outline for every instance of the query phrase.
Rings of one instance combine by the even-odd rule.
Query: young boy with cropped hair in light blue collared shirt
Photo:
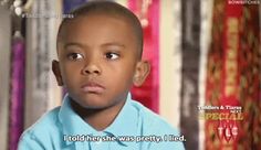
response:
[[[182,150],[173,140],[178,131],[130,98],[149,73],[138,19],[108,1],[72,14],[60,25],[52,64],[67,95],[21,136],[19,150]]]

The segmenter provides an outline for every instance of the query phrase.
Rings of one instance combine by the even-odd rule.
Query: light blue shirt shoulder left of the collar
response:
[[[29,127],[20,137],[19,150],[46,149],[46,143],[51,143],[51,139],[60,135],[59,110],[60,107],[50,110]]]

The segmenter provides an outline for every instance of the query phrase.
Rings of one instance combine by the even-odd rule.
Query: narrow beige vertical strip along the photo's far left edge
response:
[[[0,147],[6,150],[8,141],[11,15],[10,11],[2,6],[0,6]]]

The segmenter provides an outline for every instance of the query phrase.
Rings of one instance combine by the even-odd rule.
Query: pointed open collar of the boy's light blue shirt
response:
[[[138,127],[138,111],[132,106],[130,94],[128,94],[126,103],[121,109],[119,114],[104,132],[118,136],[137,136]],[[63,99],[63,104],[59,111],[59,120],[63,127],[63,133],[69,135],[92,135],[97,133],[97,130],[86,124],[71,107],[70,97],[66,94]],[[70,144],[72,141],[65,141]],[[125,146],[129,144],[129,141],[118,141]]]

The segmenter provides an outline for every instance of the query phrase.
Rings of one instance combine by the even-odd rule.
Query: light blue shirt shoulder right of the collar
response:
[[[143,106],[138,101],[132,101],[132,105],[138,110],[140,122],[142,136],[155,136],[161,138],[159,142],[149,142],[148,149],[160,150],[184,150],[184,143],[186,139],[180,136],[177,128],[173,127],[164,118],[156,113],[152,111],[147,107]],[[181,139],[181,140],[179,140]]]

